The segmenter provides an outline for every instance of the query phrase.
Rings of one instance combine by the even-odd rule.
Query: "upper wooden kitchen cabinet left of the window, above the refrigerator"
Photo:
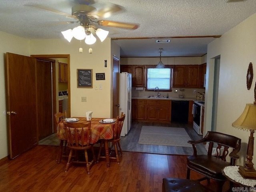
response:
[[[144,87],[144,65],[120,65],[120,72],[132,73],[133,87]]]

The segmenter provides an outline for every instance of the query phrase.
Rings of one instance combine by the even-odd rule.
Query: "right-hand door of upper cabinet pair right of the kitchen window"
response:
[[[199,87],[199,65],[187,65],[187,87]]]

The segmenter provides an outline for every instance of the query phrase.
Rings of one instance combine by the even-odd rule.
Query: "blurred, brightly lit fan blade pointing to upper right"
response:
[[[107,3],[103,8],[100,8],[99,10],[90,13],[91,16],[95,18],[108,18],[112,14],[121,11],[123,8],[122,6],[112,4],[112,3]]]

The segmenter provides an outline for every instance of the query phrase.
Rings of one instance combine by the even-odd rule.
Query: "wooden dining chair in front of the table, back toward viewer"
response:
[[[70,163],[86,163],[87,173],[89,174],[92,163],[96,162],[93,144],[90,144],[91,121],[88,121],[88,124],[64,122],[64,129],[68,138],[68,148],[70,148],[65,172],[68,171]],[[87,151],[88,149],[91,149],[92,151],[92,159],[90,162]],[[72,156],[73,151],[75,152],[74,156]],[[78,158],[78,153],[76,153],[77,151],[84,152],[85,161],[81,161]],[[71,161],[72,157],[75,159],[73,158]]]

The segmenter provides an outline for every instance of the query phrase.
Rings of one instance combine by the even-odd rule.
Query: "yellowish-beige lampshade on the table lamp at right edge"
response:
[[[232,123],[233,127],[256,130],[256,105],[246,104],[242,115]]]

